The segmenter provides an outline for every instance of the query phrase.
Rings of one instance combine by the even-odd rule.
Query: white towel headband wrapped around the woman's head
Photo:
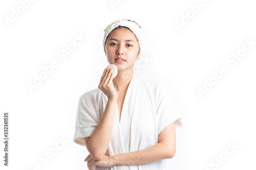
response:
[[[115,28],[117,28],[119,26],[129,28],[137,37],[137,40],[139,42],[140,51],[139,51],[139,54],[138,54],[138,57],[136,60],[140,59],[142,57],[142,52],[143,52],[142,44],[144,44],[144,34],[143,34],[140,26],[136,22],[134,22],[132,20],[127,20],[127,19],[116,20],[104,29],[103,48],[104,48],[105,55],[106,55],[106,51],[105,51],[106,38],[108,37],[108,35],[111,33],[112,30],[114,30]]]

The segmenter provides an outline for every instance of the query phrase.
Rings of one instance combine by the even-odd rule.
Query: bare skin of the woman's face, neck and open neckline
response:
[[[118,94],[117,108],[120,123],[124,98],[133,76],[134,63],[139,54],[139,42],[133,32],[126,28],[118,28],[113,30],[106,39],[105,50],[108,62],[115,64],[118,69],[113,84]],[[122,57],[126,61],[118,63],[115,61],[117,57]]]

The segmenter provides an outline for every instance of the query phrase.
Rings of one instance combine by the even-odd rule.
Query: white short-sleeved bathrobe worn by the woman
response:
[[[107,101],[108,97],[99,88],[81,95],[77,107],[74,142],[86,145],[83,138],[91,136],[99,125]],[[112,136],[106,156],[146,149],[158,143],[159,133],[169,124],[176,121],[176,128],[182,126],[181,115],[167,88],[161,84],[140,80],[135,74],[126,91],[120,124],[117,109],[116,104]],[[133,159],[136,158],[131,158],[127,162],[132,162]],[[94,169],[156,170],[167,169],[167,166],[164,159],[148,164],[96,166]]]

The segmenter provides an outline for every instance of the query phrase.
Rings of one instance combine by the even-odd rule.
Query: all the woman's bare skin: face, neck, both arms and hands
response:
[[[108,74],[103,73],[102,77],[106,77],[105,79],[101,78],[102,86],[99,85],[99,88],[108,96],[109,100],[99,126],[91,137],[84,138],[90,153],[84,159],[87,161],[88,169],[92,170],[95,165],[101,167],[139,165],[172,158],[176,152],[175,123],[164,128],[158,135],[158,143],[149,148],[115,156],[105,155],[111,138],[116,104],[120,123],[124,98],[133,77],[134,63],[139,53],[139,44],[133,32],[126,28],[118,28],[114,29],[106,39],[105,50],[108,62],[117,66],[118,74],[113,78],[110,76],[112,72],[110,71]],[[115,61],[117,57],[123,58],[125,62],[117,63]],[[110,84],[111,81],[113,81],[114,87]]]

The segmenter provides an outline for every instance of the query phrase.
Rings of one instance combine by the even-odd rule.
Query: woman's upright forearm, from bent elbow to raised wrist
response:
[[[87,149],[95,160],[100,160],[105,155],[106,150],[108,150],[113,129],[116,101],[116,99],[108,100],[102,119],[88,141]]]

